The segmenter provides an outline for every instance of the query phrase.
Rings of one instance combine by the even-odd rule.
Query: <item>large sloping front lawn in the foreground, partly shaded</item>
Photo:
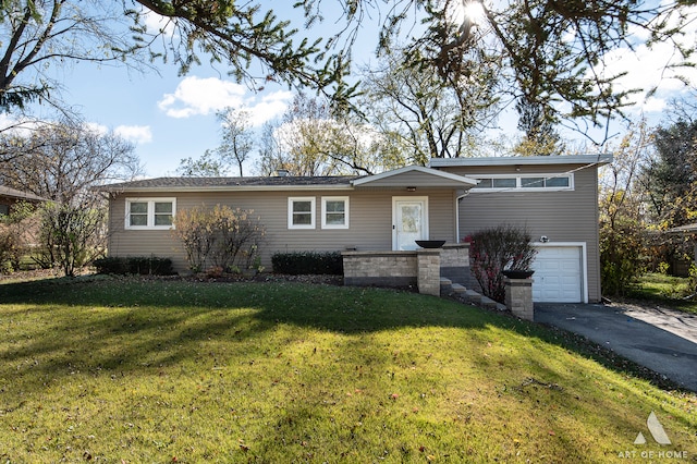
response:
[[[444,298],[96,277],[0,284],[0,302],[3,463],[697,453],[697,395]],[[650,438],[651,411],[672,445]]]

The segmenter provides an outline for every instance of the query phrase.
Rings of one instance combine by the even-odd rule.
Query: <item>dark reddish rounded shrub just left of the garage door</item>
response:
[[[505,301],[504,270],[528,270],[537,249],[530,233],[514,225],[498,225],[472,235],[469,267],[481,292],[493,301]]]

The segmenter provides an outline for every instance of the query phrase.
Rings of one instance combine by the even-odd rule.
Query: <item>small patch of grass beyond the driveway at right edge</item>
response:
[[[628,296],[672,309],[697,314],[697,300],[686,298],[694,293],[695,289],[690,288],[688,278],[657,272],[641,276]]]

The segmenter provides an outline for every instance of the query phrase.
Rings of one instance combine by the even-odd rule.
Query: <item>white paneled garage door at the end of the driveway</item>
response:
[[[583,303],[580,246],[540,246],[533,264],[533,301]]]

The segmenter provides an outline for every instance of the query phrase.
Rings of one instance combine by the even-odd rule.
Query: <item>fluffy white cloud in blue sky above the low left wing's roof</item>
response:
[[[173,94],[166,94],[158,107],[170,118],[208,115],[228,107],[244,109],[249,112],[252,124],[258,126],[283,113],[293,98],[291,91],[279,90],[257,101],[246,91],[246,87],[229,81],[191,76],[180,82]]]

